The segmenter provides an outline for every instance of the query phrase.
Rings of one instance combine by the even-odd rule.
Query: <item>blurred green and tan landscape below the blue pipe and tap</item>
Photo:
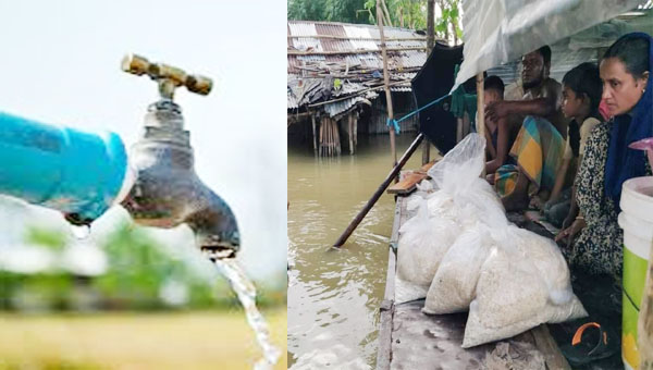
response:
[[[0,370],[251,369],[261,353],[218,269],[193,245],[122,220],[76,237],[0,197]],[[32,220],[32,221],[30,221]],[[286,272],[256,281],[286,368]]]

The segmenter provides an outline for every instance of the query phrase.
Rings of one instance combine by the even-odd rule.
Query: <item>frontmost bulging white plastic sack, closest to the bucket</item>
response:
[[[567,266],[564,259],[559,263],[560,252],[550,248],[551,240],[516,226],[494,234],[497,246],[481,268],[463,348],[588,314],[571,293]]]

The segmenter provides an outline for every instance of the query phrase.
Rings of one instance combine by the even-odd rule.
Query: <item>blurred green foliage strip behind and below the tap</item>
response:
[[[25,240],[61,257],[67,237],[60,231],[29,229]],[[98,276],[77,276],[61,269],[25,274],[0,268],[0,309],[164,309],[172,306],[164,301],[161,292],[171,283],[177,292],[183,291],[184,297],[174,307],[239,305],[225,280],[207,279],[206,271],[197,271],[196,263],[173,256],[140,229],[119,226],[100,247],[108,269]],[[264,296],[259,296],[259,300],[284,304],[285,284],[282,285],[271,291],[263,288]]]

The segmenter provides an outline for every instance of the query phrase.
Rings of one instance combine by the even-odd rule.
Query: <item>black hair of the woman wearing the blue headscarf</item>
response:
[[[642,78],[649,71],[649,40],[643,37],[621,37],[613,44],[603,59],[617,58],[626,65],[626,72]]]

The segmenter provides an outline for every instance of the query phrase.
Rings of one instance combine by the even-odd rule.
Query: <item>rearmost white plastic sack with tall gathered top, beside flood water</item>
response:
[[[419,214],[399,230],[395,301],[426,297],[441,259],[459,234],[479,222],[508,224],[494,189],[479,177],[484,150],[484,138],[468,135],[429,170],[432,182],[422,181],[420,187],[430,193],[408,199],[407,209],[419,208]]]

